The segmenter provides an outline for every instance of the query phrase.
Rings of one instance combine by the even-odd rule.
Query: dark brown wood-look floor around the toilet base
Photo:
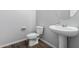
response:
[[[39,43],[32,47],[28,46],[28,41],[23,41],[10,46],[6,46],[4,48],[51,48],[51,47],[39,40]]]

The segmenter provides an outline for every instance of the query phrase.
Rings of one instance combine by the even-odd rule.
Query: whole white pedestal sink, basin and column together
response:
[[[59,48],[67,48],[67,37],[78,34],[78,28],[64,25],[51,25],[49,28],[59,35]]]

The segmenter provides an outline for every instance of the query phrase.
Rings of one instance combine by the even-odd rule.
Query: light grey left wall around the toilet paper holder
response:
[[[25,38],[34,31],[35,19],[34,10],[0,10],[0,46]],[[26,26],[25,31],[22,26]]]

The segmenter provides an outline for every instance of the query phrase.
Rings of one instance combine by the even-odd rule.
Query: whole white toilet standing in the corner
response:
[[[36,33],[29,33],[26,35],[27,39],[29,39],[29,46],[34,46],[38,44],[41,35],[44,32],[44,28],[42,26],[36,26]]]

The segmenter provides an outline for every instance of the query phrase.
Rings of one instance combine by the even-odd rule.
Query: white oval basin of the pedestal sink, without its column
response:
[[[76,36],[78,34],[78,28],[72,26],[62,26],[62,25],[51,25],[49,28],[57,33],[64,36]]]

